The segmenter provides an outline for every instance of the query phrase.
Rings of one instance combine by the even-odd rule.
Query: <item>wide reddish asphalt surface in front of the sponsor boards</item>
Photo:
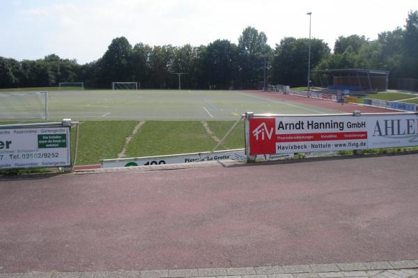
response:
[[[0,179],[0,272],[416,259],[417,163],[410,154]]]

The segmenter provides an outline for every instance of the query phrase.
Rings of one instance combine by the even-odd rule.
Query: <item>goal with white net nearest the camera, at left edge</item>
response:
[[[48,118],[48,92],[0,92],[0,120]]]

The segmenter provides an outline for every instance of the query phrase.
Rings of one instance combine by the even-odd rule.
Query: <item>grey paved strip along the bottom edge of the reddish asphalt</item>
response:
[[[418,260],[100,272],[3,273],[0,278],[417,278]]]

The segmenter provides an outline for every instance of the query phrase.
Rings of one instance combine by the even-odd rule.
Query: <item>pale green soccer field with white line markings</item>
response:
[[[1,92],[0,92],[1,94]],[[3,97],[2,99],[6,99]],[[0,119],[42,110],[42,99],[3,101]],[[48,92],[49,120],[233,120],[242,113],[317,114],[337,111],[219,90],[80,90]]]

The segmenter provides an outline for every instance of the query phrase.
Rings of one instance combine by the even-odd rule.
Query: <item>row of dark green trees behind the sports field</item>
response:
[[[307,38],[284,38],[272,49],[267,36],[251,26],[238,44],[215,40],[193,47],[171,44],[133,47],[124,37],[112,40],[101,58],[79,65],[55,54],[38,60],[0,57],[0,88],[56,86],[84,82],[90,88],[111,88],[111,82],[137,81],[141,88],[178,88],[176,72],[188,89],[255,89],[268,82],[300,86],[307,83]],[[418,79],[418,11],[410,11],[403,28],[378,34],[339,37],[334,49],[320,39],[311,40],[312,70],[366,68],[390,71],[391,79]]]

